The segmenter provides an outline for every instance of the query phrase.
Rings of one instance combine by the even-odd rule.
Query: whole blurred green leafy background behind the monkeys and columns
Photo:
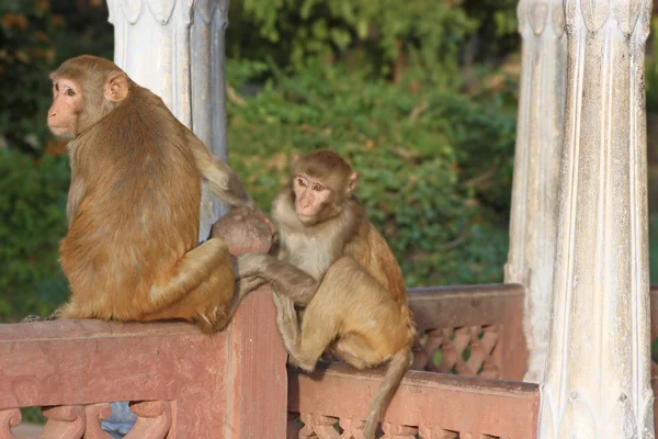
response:
[[[409,286],[500,282],[507,258],[520,37],[517,0],[234,0],[230,164],[258,205],[292,151],[332,148]],[[101,0],[0,3],[0,322],[67,297],[66,143],[49,136],[48,72],[112,58]],[[649,185],[658,212],[658,54],[647,48]],[[655,114],[654,114],[655,113]],[[658,227],[651,215],[651,236]],[[658,280],[658,240],[651,241]]]

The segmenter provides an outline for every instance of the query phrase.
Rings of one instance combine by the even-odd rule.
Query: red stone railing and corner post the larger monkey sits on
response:
[[[226,333],[184,323],[0,325],[0,439],[42,406],[43,438],[111,438],[99,421],[129,401],[126,436],[285,437],[285,351],[270,294],[248,297]]]

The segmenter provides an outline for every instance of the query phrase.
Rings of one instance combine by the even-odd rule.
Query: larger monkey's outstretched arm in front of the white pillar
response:
[[[253,205],[242,183],[232,169],[217,157],[192,132],[186,134],[196,168],[208,183],[208,189],[219,201],[234,206]]]

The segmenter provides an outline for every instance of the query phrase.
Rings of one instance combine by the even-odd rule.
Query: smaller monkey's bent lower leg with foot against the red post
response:
[[[276,326],[283,338],[283,345],[290,354],[293,364],[298,365],[307,372],[311,372],[318,359],[336,336],[334,325],[318,319],[308,322],[308,309],[303,320],[303,329],[299,330],[295,304],[290,297],[272,294],[276,305]]]

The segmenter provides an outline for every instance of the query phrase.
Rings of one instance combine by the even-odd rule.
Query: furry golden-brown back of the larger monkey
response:
[[[81,193],[60,260],[71,293],[93,295],[89,306],[100,318],[135,315],[196,245],[201,176],[185,133],[159,98],[134,86],[75,140],[71,167],[80,180],[71,191]]]

